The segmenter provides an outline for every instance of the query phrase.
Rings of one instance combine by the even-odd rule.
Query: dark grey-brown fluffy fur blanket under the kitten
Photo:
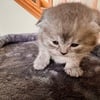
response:
[[[0,49],[0,100],[100,100],[100,46],[83,59],[84,75],[68,76],[64,65],[33,69],[36,42],[10,44]]]

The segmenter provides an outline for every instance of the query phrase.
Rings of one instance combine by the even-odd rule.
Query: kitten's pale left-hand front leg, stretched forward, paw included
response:
[[[45,48],[39,50],[39,54],[35,61],[33,62],[33,67],[36,70],[42,70],[44,69],[50,62],[50,55]]]

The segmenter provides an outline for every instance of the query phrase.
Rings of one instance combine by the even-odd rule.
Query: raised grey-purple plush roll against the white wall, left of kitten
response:
[[[9,43],[35,41],[36,39],[37,39],[37,34],[35,33],[8,34],[8,35],[0,36],[0,47],[3,47],[4,45],[7,45]]]

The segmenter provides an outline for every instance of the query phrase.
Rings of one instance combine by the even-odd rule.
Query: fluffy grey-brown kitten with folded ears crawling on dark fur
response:
[[[99,16],[98,11],[80,3],[65,3],[45,10],[37,23],[39,53],[33,67],[42,70],[53,59],[65,63],[68,75],[81,76],[80,61],[97,44]]]

